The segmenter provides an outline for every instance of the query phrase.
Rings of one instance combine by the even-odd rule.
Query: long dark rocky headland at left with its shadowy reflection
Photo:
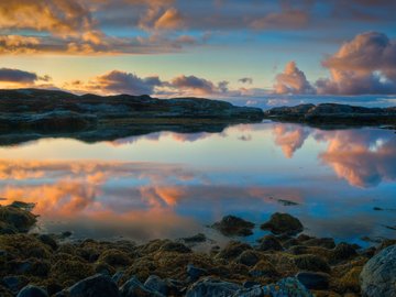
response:
[[[235,123],[261,122],[263,110],[202,98],[76,96],[64,91],[0,90],[0,143],[42,136],[87,142],[158,131],[221,132]]]

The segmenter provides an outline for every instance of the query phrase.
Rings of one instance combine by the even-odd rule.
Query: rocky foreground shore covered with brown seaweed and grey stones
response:
[[[234,239],[208,253],[197,234],[180,240],[73,241],[29,232],[33,205],[0,207],[0,296],[395,296],[396,240],[361,249],[301,233],[302,224],[274,213],[256,244]],[[249,235],[254,223],[228,216],[212,228]]]

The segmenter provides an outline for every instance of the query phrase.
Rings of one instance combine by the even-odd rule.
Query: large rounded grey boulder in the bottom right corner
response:
[[[360,275],[363,296],[396,296],[396,245],[391,245],[373,256]]]

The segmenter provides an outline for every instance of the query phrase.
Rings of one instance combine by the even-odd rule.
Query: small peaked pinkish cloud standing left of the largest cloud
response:
[[[307,80],[304,72],[298,69],[296,62],[286,64],[285,70],[275,78],[276,94],[315,94],[315,88]]]

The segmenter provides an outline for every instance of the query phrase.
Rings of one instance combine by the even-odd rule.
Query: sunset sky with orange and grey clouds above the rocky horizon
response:
[[[388,98],[395,11],[395,0],[1,1],[0,88]]]

